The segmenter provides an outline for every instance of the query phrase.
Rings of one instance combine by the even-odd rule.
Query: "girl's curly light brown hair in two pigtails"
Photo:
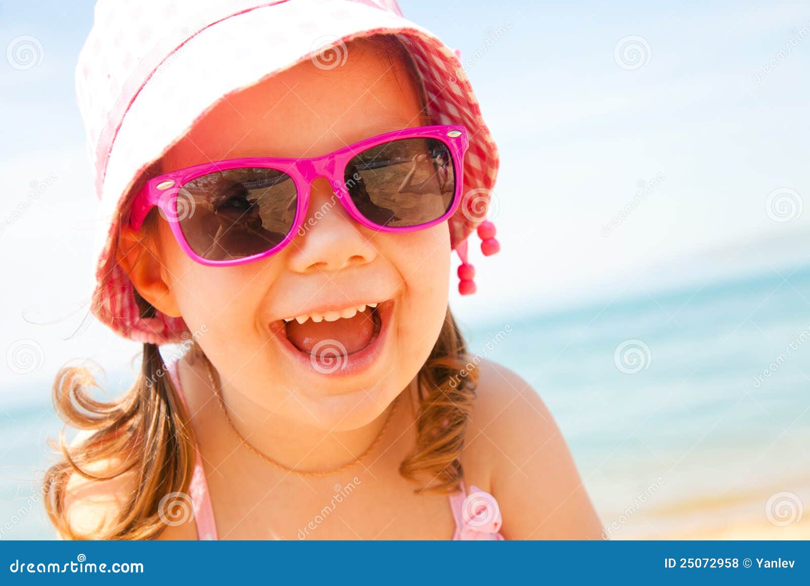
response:
[[[417,83],[407,50],[392,36],[372,36],[352,41],[370,45],[404,64],[406,75]],[[424,93],[423,93],[424,95]],[[153,166],[139,184],[155,173]],[[130,192],[136,193],[137,186]],[[154,238],[155,210],[143,226],[146,239]],[[154,243],[154,241],[152,241]],[[114,251],[113,251],[114,254]],[[156,310],[137,292],[141,316]],[[399,466],[409,481],[427,479],[419,492],[449,493],[463,479],[460,455],[464,434],[475,399],[477,371],[467,366],[467,346],[450,313],[417,376],[419,413],[416,445]],[[64,434],[54,443],[62,460],[45,473],[45,509],[62,537],[69,539],[151,539],[166,525],[160,503],[170,493],[187,493],[194,469],[195,439],[189,413],[180,400],[156,344],[143,344],[143,361],[134,384],[123,396],[104,402],[93,399],[97,387],[87,366],[63,366],[53,383],[53,406],[67,426],[86,432],[80,441],[68,443]],[[451,383],[453,381],[453,383]],[[456,381],[460,381],[456,383]],[[100,463],[114,463],[103,474],[93,472]],[[66,511],[68,481],[74,474],[90,481],[108,481],[122,474],[136,481],[126,495],[117,518],[107,520],[92,534],[78,533]],[[165,508],[165,507],[164,507]]]

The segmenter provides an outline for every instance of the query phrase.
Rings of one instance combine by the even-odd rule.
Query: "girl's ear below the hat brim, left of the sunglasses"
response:
[[[134,288],[156,310],[173,318],[180,317],[177,302],[165,279],[165,267],[156,237],[135,232],[122,225],[117,247],[118,265],[130,277]]]

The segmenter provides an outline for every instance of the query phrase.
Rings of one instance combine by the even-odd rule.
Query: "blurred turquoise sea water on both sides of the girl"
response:
[[[611,536],[666,537],[807,486],[808,300],[810,271],[769,272],[462,327],[542,396]],[[0,538],[52,538],[40,478],[61,423],[42,399],[0,420]]]

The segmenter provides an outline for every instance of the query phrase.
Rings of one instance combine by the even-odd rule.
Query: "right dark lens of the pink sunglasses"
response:
[[[343,181],[366,219],[402,228],[444,216],[456,183],[450,148],[437,139],[393,140],[360,152]]]

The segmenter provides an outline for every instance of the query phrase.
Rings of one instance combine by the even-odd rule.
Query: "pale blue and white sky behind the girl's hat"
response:
[[[461,49],[501,154],[502,250],[473,250],[478,293],[451,296],[463,323],[807,260],[806,2],[400,5]],[[0,2],[7,400],[71,358],[123,365],[139,352],[86,319],[96,199],[74,71],[92,6]],[[33,64],[15,57],[21,40]],[[36,344],[27,374],[8,364],[20,340]]]

